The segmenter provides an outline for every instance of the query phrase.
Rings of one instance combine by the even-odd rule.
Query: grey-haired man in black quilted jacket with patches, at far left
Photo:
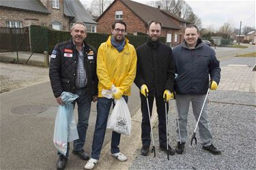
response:
[[[72,92],[79,95],[76,99],[79,120],[77,131],[79,139],[74,141],[73,154],[83,160],[88,160],[83,146],[85,144],[86,131],[88,127],[91,101],[98,99],[98,78],[96,75],[96,49],[85,43],[87,37],[86,27],[83,22],[75,22],[71,29],[72,39],[57,44],[51,54],[50,80],[53,94],[59,105],[61,93]],[[74,103],[75,104],[75,103]],[[68,160],[69,143],[66,156],[59,155],[57,169],[64,169]]]

